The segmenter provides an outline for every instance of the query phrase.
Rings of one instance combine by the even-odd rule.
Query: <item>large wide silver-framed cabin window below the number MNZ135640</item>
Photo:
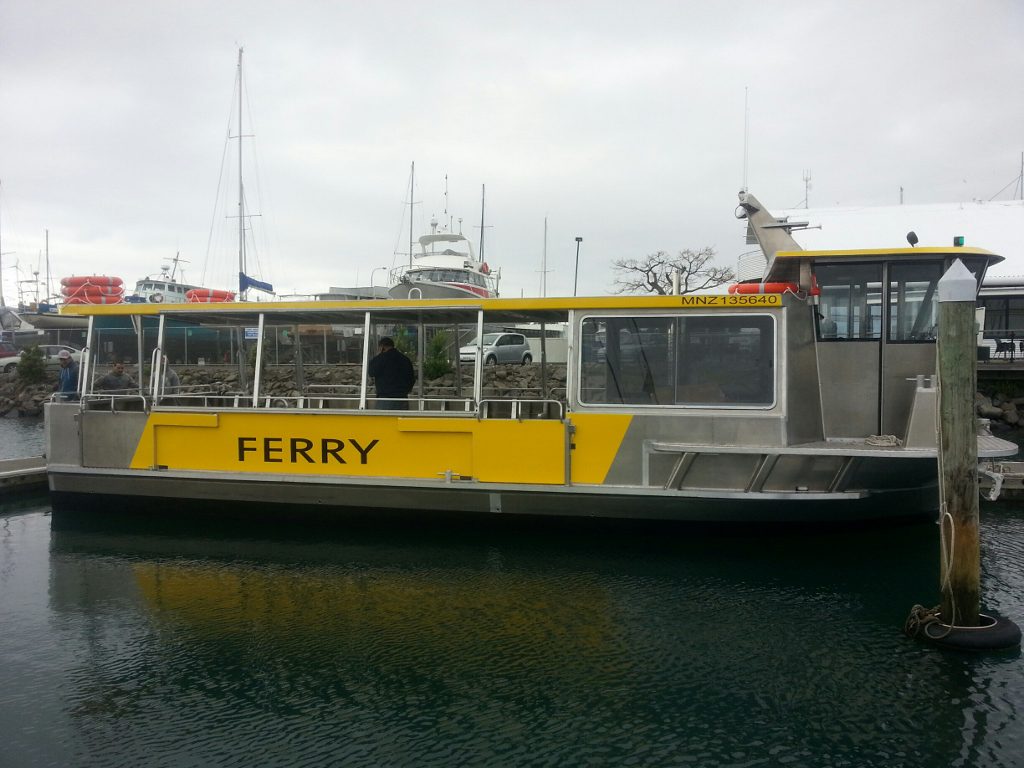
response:
[[[581,327],[585,404],[770,408],[770,315],[587,317]]]

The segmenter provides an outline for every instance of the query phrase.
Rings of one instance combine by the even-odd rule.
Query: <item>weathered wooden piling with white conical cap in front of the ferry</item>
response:
[[[942,621],[977,627],[981,601],[975,295],[958,259],[939,281],[939,484]]]

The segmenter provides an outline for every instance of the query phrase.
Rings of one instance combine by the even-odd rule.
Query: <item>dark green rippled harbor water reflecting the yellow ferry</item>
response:
[[[41,425],[0,420],[3,457]],[[1019,651],[905,638],[938,529],[352,528],[0,503],[3,766],[1015,766]],[[1024,623],[1024,507],[982,510]]]

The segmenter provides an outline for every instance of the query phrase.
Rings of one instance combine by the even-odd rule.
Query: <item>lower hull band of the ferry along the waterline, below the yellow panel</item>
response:
[[[934,482],[909,488],[834,494],[709,494],[695,490],[608,488],[605,486],[481,486],[380,478],[296,478],[290,475],[222,476],[209,473],[84,473],[51,466],[54,510],[117,510],[148,514],[166,501],[236,505],[257,515],[278,508],[318,510],[343,521],[368,510],[473,516],[603,518],[697,523],[849,523],[934,519],[938,507]]]

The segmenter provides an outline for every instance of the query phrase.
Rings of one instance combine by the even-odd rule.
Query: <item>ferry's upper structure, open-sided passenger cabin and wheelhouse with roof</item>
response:
[[[83,407],[375,411],[366,368],[389,336],[415,362],[410,409],[425,415],[629,413],[655,436],[671,414],[686,424],[674,433],[710,443],[903,438],[919,377],[935,373],[937,284],[956,258],[980,283],[998,257],[779,252],[763,285],[781,292],[726,296],[88,307]],[[496,327],[534,337],[530,364],[460,360],[466,338]],[[136,360],[136,391],[94,391],[113,357]],[[168,393],[165,365],[203,383]]]

